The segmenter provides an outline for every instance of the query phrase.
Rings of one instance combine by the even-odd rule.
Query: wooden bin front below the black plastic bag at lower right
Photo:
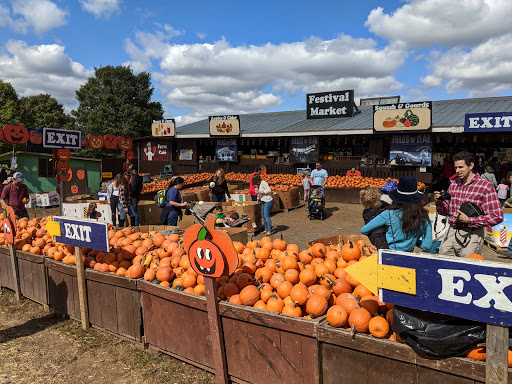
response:
[[[485,382],[485,363],[466,358],[424,359],[405,344],[333,328],[317,327],[321,374],[325,384]],[[509,369],[512,383],[512,369]]]

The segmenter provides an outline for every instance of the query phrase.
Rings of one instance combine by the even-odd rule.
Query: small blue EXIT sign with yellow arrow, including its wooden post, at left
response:
[[[82,328],[89,329],[89,310],[82,248],[108,252],[110,249],[108,224],[91,219],[50,216],[46,223],[46,231],[55,242],[73,245],[75,247],[80,317],[82,320]]]

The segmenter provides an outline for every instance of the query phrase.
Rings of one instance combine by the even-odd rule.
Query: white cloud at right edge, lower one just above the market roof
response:
[[[471,51],[453,48],[431,62],[425,88],[445,82],[446,91],[470,97],[492,96],[512,88],[512,34],[490,39]]]

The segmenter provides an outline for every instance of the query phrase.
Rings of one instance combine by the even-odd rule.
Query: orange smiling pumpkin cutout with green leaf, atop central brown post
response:
[[[185,231],[183,246],[198,275],[229,276],[238,266],[238,254],[229,235],[214,226],[215,216],[208,215],[204,225],[195,224]]]

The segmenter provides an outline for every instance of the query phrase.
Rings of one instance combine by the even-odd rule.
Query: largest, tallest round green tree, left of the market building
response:
[[[147,72],[135,75],[125,66],[95,68],[94,77],[76,91],[79,105],[71,113],[86,135],[149,136],[152,121],[163,118],[162,104],[151,101],[153,91]],[[84,152],[96,157],[120,154],[91,149]]]

